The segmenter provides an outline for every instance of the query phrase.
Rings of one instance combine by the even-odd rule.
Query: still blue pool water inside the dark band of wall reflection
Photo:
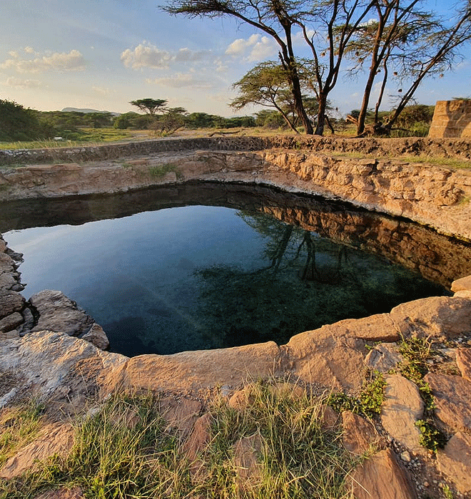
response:
[[[445,291],[260,210],[171,207],[4,238],[24,253],[26,297],[60,289],[103,326],[112,351],[128,356],[283,344]]]

